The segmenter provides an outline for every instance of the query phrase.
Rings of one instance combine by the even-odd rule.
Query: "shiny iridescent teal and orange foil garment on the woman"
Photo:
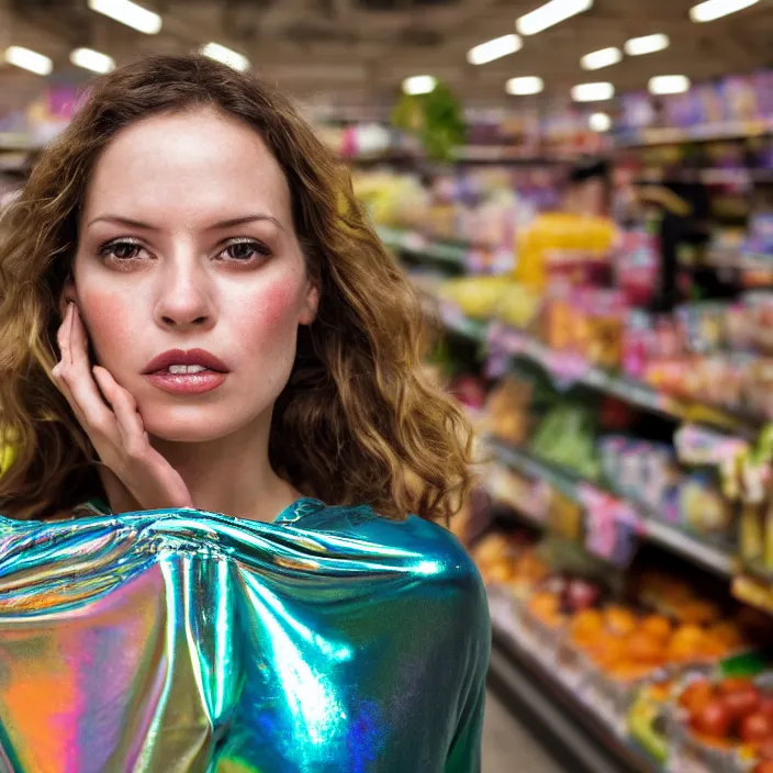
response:
[[[479,771],[489,641],[416,517],[0,518],[0,770]]]

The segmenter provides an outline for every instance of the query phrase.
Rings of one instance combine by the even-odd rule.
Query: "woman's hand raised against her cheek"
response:
[[[107,369],[90,370],[87,332],[75,303],[68,303],[57,341],[61,359],[52,376],[115,479],[108,488],[121,512],[192,507],[180,474],[150,446],[134,397]]]

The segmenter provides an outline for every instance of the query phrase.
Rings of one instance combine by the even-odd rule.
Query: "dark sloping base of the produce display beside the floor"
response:
[[[594,773],[659,773],[661,769],[587,706],[554,668],[533,654],[491,606],[490,674],[518,708],[541,725],[575,760],[571,770]]]

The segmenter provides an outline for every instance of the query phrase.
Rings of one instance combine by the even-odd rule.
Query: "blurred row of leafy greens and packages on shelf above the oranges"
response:
[[[677,529],[727,549],[738,508],[708,459],[680,461],[673,444],[637,435],[617,401],[563,394],[544,380],[508,374],[492,389],[481,427],[557,471],[586,481]],[[613,428],[627,432],[612,432]]]

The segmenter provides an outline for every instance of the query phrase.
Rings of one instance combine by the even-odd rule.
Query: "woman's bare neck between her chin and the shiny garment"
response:
[[[180,473],[197,509],[271,522],[300,494],[271,468],[268,430],[249,426],[205,442],[152,438],[152,444]],[[102,480],[114,513],[133,509],[122,501],[115,481]]]

